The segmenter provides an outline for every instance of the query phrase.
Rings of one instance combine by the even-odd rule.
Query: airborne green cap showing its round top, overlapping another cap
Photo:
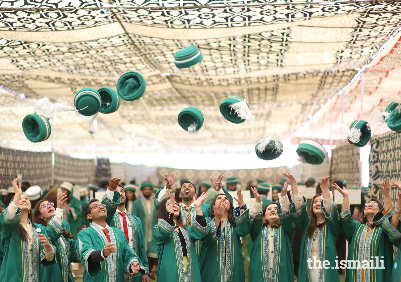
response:
[[[82,88],[74,96],[74,106],[83,116],[93,116],[100,110],[101,97],[99,92],[92,88]]]

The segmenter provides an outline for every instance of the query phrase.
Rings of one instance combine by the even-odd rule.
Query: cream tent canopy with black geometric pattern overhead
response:
[[[328,139],[322,105],[401,25],[400,2],[353,2],[4,0],[0,83],[25,98],[1,91],[0,141],[48,150],[50,138],[32,144],[22,132],[22,118],[33,112],[37,98],[55,102],[63,96],[71,100],[83,87],[115,89],[126,71],[146,78],[143,99],[156,122],[142,119],[136,101],[122,101],[117,112],[97,117],[99,151],[231,150],[254,146],[272,133],[290,140],[319,113],[326,123],[319,129],[314,122],[315,134]],[[176,69],[173,53],[190,45],[198,46],[203,61]],[[369,85],[378,85],[381,75]],[[368,88],[367,95],[374,93]],[[358,97],[352,91],[347,105]],[[219,104],[228,95],[245,98],[256,122],[225,120]],[[188,105],[205,115],[196,136],[177,122]],[[338,109],[338,101],[333,107]],[[358,111],[350,117],[357,118]],[[338,118],[337,111],[333,122]],[[86,121],[78,114],[55,114],[55,148],[92,152],[93,128]]]

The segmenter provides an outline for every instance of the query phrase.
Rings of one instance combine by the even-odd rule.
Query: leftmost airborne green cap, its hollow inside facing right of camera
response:
[[[47,140],[51,134],[49,120],[38,114],[29,114],[22,120],[22,130],[30,142]]]

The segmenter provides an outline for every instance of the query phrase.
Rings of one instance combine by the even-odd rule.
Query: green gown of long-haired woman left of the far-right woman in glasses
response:
[[[306,211],[306,198],[304,198],[304,203],[301,205],[300,210],[297,212],[295,206],[293,205],[290,210],[290,214],[298,227],[302,231],[302,241],[300,250],[300,266],[298,272],[298,282],[310,282],[310,272],[313,270],[308,267],[308,259],[312,252],[312,238],[306,236],[308,226],[310,223],[310,217]],[[324,260],[329,261],[329,268],[318,269],[318,279],[319,281],[330,281],[339,282],[340,278],[338,276],[338,269],[336,269],[336,241],[338,238],[338,233],[340,232],[340,219],[338,218],[337,205],[333,202],[331,207],[330,216],[327,216],[324,210],[323,200],[321,201],[322,212],[326,224],[322,228],[318,228],[318,258],[323,264]],[[313,263],[313,260],[312,260]],[[312,264],[311,264],[312,265]],[[333,268],[331,268],[333,267]]]

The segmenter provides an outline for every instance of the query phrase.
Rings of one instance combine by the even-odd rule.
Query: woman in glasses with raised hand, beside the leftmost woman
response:
[[[57,250],[57,264],[50,268],[42,267],[40,279],[42,282],[74,282],[70,265],[71,262],[80,262],[74,237],[70,233],[70,225],[63,219],[65,201],[67,201],[67,195],[64,193],[56,195],[50,192],[45,195],[45,199],[36,203],[34,209],[33,221],[35,225],[46,230],[47,236]]]

